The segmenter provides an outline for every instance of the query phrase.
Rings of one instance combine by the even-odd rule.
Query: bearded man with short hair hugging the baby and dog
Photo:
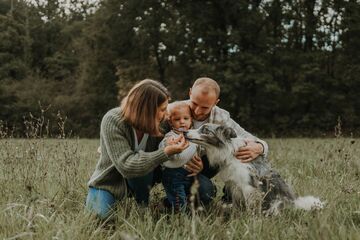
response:
[[[219,95],[220,87],[213,79],[203,77],[198,78],[194,82],[189,91],[190,99],[186,101],[192,112],[194,128],[199,128],[205,123],[215,123],[231,127],[238,136],[247,139],[247,145],[235,153],[239,161],[251,162],[259,155],[266,157],[268,154],[267,143],[245,131],[230,118],[229,112],[216,106],[220,101]],[[209,166],[206,157],[204,159],[194,157],[192,161],[188,162],[184,167],[194,174],[201,173],[201,175],[209,179],[218,172],[217,168],[211,168]],[[224,200],[229,200],[228,194],[228,192],[225,192]]]

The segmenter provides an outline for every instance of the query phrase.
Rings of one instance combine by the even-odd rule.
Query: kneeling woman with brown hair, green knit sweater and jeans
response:
[[[101,122],[101,156],[89,181],[86,207],[106,218],[116,201],[130,191],[147,205],[157,174],[154,169],[189,143],[183,136],[158,149],[159,125],[168,105],[169,93],[159,82],[145,79],[136,84]]]

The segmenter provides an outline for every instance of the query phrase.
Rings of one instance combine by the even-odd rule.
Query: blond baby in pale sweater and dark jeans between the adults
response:
[[[166,146],[167,142],[182,134],[182,131],[189,130],[192,126],[191,111],[185,102],[173,102],[168,106],[169,123],[172,128],[168,132],[159,147]],[[197,153],[197,145],[189,143],[181,153],[175,154],[171,160],[164,162],[163,185],[166,196],[175,210],[186,208],[186,199],[193,182],[193,177],[183,166],[190,161]]]

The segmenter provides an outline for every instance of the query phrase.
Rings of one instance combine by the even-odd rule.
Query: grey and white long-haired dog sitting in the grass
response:
[[[260,210],[266,215],[277,215],[289,204],[304,210],[323,208],[324,204],[316,197],[296,197],[263,156],[250,163],[239,161],[234,152],[246,142],[232,128],[207,123],[184,132],[184,136],[203,146],[210,165],[219,167],[220,178],[230,190],[234,206]]]

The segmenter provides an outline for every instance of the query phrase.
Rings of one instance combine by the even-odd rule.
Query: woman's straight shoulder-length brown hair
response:
[[[121,114],[134,128],[150,135],[161,135],[156,124],[158,107],[169,100],[169,91],[160,82],[144,79],[135,84],[121,101]]]

